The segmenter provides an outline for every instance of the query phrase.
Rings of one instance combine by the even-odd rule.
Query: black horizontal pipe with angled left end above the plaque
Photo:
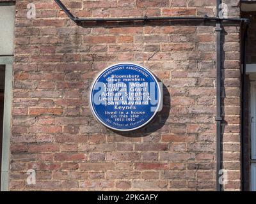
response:
[[[60,0],[54,0],[58,6],[60,6],[61,10],[63,10],[67,16],[76,23],[79,22],[124,22],[124,21],[149,21],[149,20],[221,20],[221,21],[232,21],[232,22],[245,22],[249,23],[248,18],[219,18],[219,17],[208,17],[205,15],[204,17],[131,17],[131,18],[78,18],[74,17],[72,13],[67,9],[67,7],[61,3]]]

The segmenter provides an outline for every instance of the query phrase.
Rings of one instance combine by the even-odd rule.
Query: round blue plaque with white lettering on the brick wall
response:
[[[120,63],[104,69],[90,90],[90,108],[104,126],[117,131],[139,129],[161,107],[161,89],[145,67]]]

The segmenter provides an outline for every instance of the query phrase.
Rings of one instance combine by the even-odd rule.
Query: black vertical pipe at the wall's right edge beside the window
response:
[[[245,163],[245,156],[244,156],[244,136],[245,136],[245,127],[246,127],[246,103],[245,103],[245,99],[246,99],[246,41],[247,41],[247,37],[248,37],[248,25],[245,25],[245,29],[244,29],[244,33],[243,33],[243,56],[242,56],[242,60],[243,60],[243,73],[242,73],[242,91],[241,91],[241,190],[244,190],[244,178],[246,177],[246,175],[244,175],[245,171],[244,171],[244,163]]]

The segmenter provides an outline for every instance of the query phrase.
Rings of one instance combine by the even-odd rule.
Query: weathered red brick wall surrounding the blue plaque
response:
[[[63,1],[79,17],[214,15],[215,0]],[[227,1],[239,15],[239,1]],[[17,1],[11,190],[214,190],[215,34],[204,22],[77,26],[54,1]],[[240,187],[239,27],[225,27],[225,189]],[[147,66],[164,108],[132,134],[115,133],[88,106],[93,77],[116,62]],[[223,127],[224,128],[224,127]],[[36,185],[26,171],[36,170]]]

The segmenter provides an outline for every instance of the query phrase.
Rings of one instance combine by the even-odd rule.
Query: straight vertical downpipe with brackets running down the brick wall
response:
[[[221,0],[216,0],[216,17],[219,17]],[[216,191],[221,191],[221,22],[216,22]]]

